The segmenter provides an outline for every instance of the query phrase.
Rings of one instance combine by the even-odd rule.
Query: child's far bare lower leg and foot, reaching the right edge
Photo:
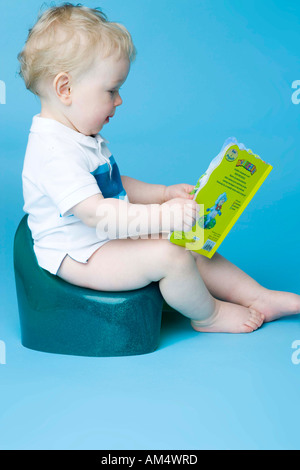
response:
[[[219,253],[208,259],[192,253],[210,293],[261,312],[266,322],[300,313],[300,296],[266,289]]]

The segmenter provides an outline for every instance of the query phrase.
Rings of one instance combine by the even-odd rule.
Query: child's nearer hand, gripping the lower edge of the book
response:
[[[200,206],[196,201],[175,198],[161,205],[162,231],[188,232],[199,218]]]

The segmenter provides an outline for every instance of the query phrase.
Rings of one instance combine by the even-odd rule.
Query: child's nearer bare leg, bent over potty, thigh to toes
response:
[[[58,276],[104,291],[137,289],[159,281],[166,302],[190,318],[197,331],[249,333],[263,322],[263,316],[254,309],[216,300],[190,252],[168,240],[112,240],[86,264],[66,256]]]

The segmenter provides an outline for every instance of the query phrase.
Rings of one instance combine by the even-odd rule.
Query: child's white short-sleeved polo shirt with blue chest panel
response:
[[[86,263],[107,234],[70,209],[95,194],[128,202],[118,166],[100,134],[81,134],[53,119],[33,117],[22,172],[24,211],[39,265],[57,274],[66,254]]]

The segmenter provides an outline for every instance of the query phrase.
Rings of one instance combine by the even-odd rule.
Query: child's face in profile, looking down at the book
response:
[[[85,135],[100,132],[117,106],[122,104],[120,86],[130,69],[127,58],[117,60],[114,56],[99,59],[79,82],[71,87],[72,104],[68,119],[73,127]]]

